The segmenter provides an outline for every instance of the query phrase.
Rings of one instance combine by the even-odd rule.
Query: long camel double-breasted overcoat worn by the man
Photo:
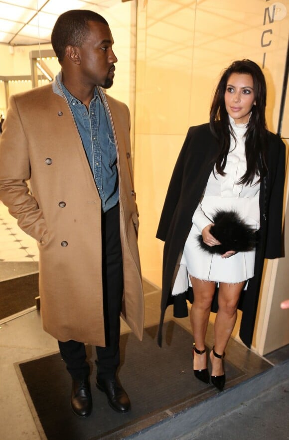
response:
[[[117,147],[122,316],[142,339],[144,297],[130,114],[125,104],[101,89],[99,93],[110,115]],[[10,98],[0,136],[0,200],[19,227],[38,242],[44,330],[60,341],[74,339],[105,346],[101,199],[57,81]]]

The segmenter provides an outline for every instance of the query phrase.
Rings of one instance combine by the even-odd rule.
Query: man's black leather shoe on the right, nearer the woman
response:
[[[108,403],[113,410],[118,413],[127,413],[131,409],[129,396],[123,389],[118,378],[96,380],[96,386],[104,391],[108,398]]]

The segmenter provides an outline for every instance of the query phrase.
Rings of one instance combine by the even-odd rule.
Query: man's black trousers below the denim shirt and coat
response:
[[[98,378],[112,378],[120,364],[120,313],[124,289],[119,204],[102,214],[103,306],[106,347],[96,347]],[[85,345],[58,341],[62,359],[74,379],[89,375]]]

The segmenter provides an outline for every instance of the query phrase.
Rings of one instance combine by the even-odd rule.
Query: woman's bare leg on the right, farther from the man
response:
[[[232,334],[237,319],[237,306],[245,282],[229,284],[220,283],[218,295],[218,313],[215,320],[215,352],[223,354]],[[210,353],[212,376],[224,374],[222,359]]]

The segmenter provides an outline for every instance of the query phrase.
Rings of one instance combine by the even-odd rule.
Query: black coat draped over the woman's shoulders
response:
[[[169,304],[174,305],[174,316],[188,315],[186,299],[193,301],[192,289],[172,296],[171,284],[179,256],[192,226],[192,215],[207,185],[218,156],[219,146],[209,124],[191,127],[175,164],[167,190],[156,237],[164,241],[162,269],[161,316],[158,343],[164,313]],[[268,132],[267,175],[260,186],[260,231],[255,258],[255,275],[242,292],[238,308],[243,311],[240,337],[251,346],[264,259],[283,256],[282,210],[285,181],[285,145]],[[217,311],[217,289],[212,311]]]

